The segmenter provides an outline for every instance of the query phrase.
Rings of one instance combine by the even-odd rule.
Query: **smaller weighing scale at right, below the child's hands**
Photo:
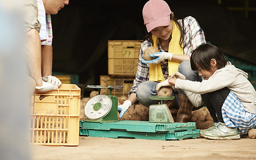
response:
[[[167,105],[163,104],[164,100],[174,100],[174,96],[163,97],[157,95],[149,95],[152,100],[160,100],[159,105],[149,106],[149,122],[152,123],[174,123],[171,112]]]

